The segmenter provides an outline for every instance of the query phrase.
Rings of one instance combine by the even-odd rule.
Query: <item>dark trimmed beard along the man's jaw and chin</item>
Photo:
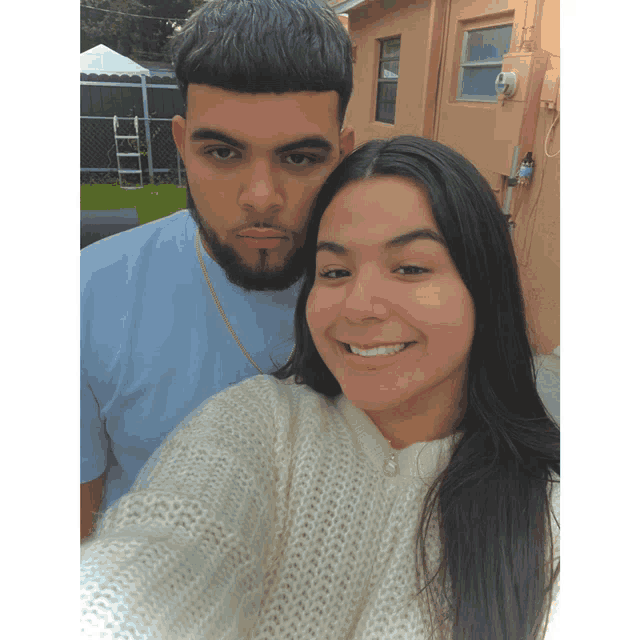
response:
[[[280,270],[255,271],[242,264],[242,257],[229,245],[222,244],[218,234],[211,228],[198,211],[187,183],[187,208],[193,221],[200,230],[202,244],[210,255],[224,270],[232,284],[246,291],[284,291],[293,286],[301,277],[304,269],[304,257],[301,247],[295,249],[286,264]],[[267,259],[266,249],[260,250],[260,258],[264,264]]]

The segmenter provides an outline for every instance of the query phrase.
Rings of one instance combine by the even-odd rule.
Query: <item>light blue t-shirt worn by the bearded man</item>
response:
[[[195,230],[188,211],[180,211],[81,252],[80,482],[106,469],[102,511],[190,412],[258,374],[211,296]],[[248,292],[206,251],[202,257],[244,348],[264,373],[274,371],[293,347],[299,284]]]

